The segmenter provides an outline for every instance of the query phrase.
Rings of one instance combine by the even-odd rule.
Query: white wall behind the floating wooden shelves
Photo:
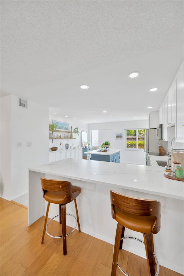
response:
[[[81,131],[86,130],[88,133],[88,124],[87,123],[82,123],[82,122],[79,122],[78,120],[68,119],[66,117],[60,117],[60,116],[57,116],[57,114],[53,114],[50,112],[49,122],[52,122],[52,120],[69,123],[69,130],[72,126],[72,131],[74,130],[74,128],[78,127],[78,130],[80,133],[79,133],[79,135],[73,134],[73,137],[76,139],[69,139],[68,141],[67,141],[67,138],[66,139],[53,139],[53,142],[52,142],[52,139],[49,139],[49,148],[59,147],[60,142],[62,142],[62,148],[64,148],[66,143],[69,144],[69,147],[72,146],[72,148],[73,147],[77,148],[78,146],[82,147]],[[58,133],[55,132],[54,134],[58,134]],[[48,132],[47,136],[49,137],[49,132]],[[90,139],[90,132],[88,133],[88,139]]]

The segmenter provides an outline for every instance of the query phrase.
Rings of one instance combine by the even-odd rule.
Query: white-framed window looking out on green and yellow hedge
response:
[[[131,129],[126,132],[126,147],[127,149],[141,150],[145,148],[145,129]]]

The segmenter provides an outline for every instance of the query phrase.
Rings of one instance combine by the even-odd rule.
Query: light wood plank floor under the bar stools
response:
[[[63,256],[62,239],[45,234],[44,244],[41,244],[45,217],[28,227],[26,208],[2,198],[0,203],[1,276],[111,275],[112,244],[75,230],[67,237],[67,255]],[[56,221],[53,225],[56,232],[52,233],[57,234],[60,225]],[[120,255],[124,256],[122,268],[128,274],[148,275],[145,259],[124,250],[120,250]],[[120,260],[119,263],[121,265]],[[122,273],[117,269],[116,275],[122,276]],[[160,266],[159,276],[179,275]]]

